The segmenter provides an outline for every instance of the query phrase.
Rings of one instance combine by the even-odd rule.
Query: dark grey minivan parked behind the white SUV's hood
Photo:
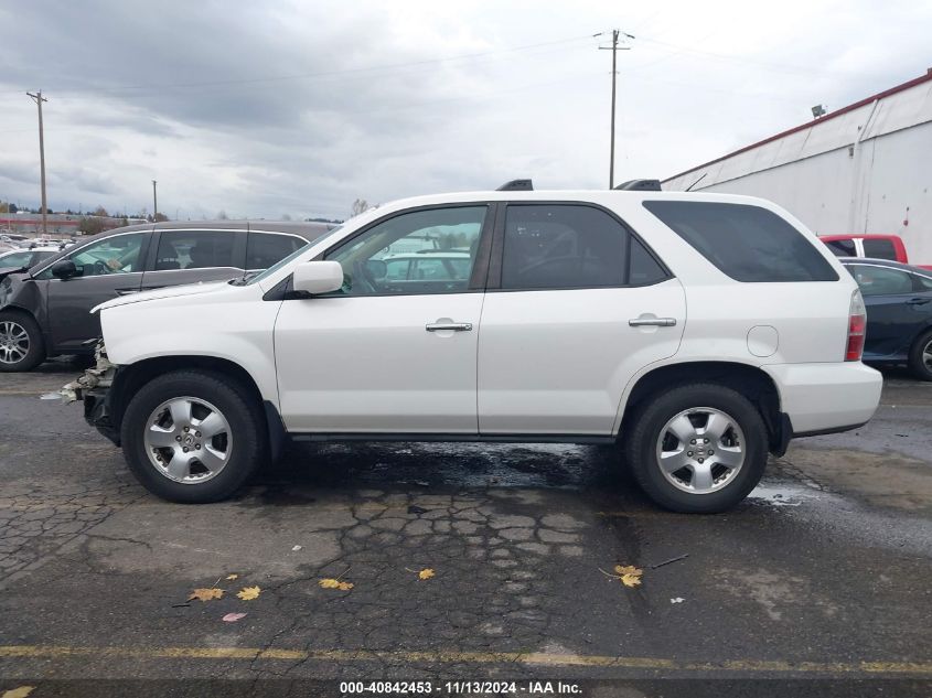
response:
[[[0,270],[0,342],[6,342],[0,372],[29,371],[58,354],[93,354],[100,322],[90,309],[105,301],[243,277],[275,265],[332,227],[228,221],[130,226],[56,249],[38,266],[22,262],[18,269]]]

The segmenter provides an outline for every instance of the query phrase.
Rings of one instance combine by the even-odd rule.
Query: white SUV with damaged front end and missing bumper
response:
[[[469,250],[469,272],[386,273],[404,238]],[[409,198],[258,276],[99,311],[113,365],[69,393],[175,502],[231,495],[289,437],[557,441],[618,443],[658,504],[719,512],[769,451],[865,423],[881,388],[854,279],[743,196]]]

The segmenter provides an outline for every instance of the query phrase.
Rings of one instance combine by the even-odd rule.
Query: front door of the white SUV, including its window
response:
[[[275,327],[291,432],[475,434],[484,204],[409,211],[329,250],[345,282],[282,302]],[[396,278],[386,258],[467,255],[441,278]]]

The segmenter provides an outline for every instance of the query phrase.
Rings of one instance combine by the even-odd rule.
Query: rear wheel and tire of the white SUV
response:
[[[622,437],[638,483],[674,512],[725,512],[757,486],[767,465],[768,433],[757,408],[714,384],[650,398]]]

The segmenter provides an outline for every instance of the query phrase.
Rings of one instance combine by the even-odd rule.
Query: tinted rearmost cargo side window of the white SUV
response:
[[[767,208],[692,201],[645,201],[644,207],[736,281],[838,280],[812,243]]]

